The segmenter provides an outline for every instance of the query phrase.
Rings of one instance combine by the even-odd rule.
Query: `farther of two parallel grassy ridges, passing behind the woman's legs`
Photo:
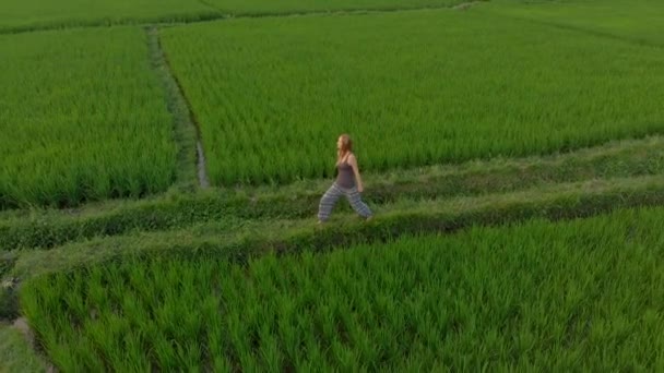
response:
[[[403,200],[486,196],[548,184],[594,179],[664,175],[664,137],[619,141],[567,154],[493,159],[366,173],[370,206]],[[299,219],[312,217],[329,184],[308,180],[280,188],[242,188],[173,193],[142,201],[110,202],[82,210],[36,209],[0,219],[0,251],[49,249],[94,237],[182,229],[208,221]],[[343,201],[342,201],[343,202]],[[337,212],[349,212],[344,203]]]

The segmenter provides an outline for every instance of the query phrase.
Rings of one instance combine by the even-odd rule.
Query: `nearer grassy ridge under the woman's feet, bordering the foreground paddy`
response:
[[[10,276],[22,281],[54,272],[132,255],[214,254],[246,263],[269,252],[325,251],[367,242],[383,242],[403,234],[453,233],[474,226],[509,226],[530,219],[572,220],[621,208],[664,206],[664,177],[589,180],[484,197],[429,201],[395,205],[369,222],[337,214],[317,227],[315,218],[266,221],[226,234],[197,230],[98,237],[51,250],[26,250],[16,257]]]

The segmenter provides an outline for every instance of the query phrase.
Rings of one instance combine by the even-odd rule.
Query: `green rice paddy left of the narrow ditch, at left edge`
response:
[[[139,28],[0,36],[0,208],[170,185],[173,118],[145,37]]]

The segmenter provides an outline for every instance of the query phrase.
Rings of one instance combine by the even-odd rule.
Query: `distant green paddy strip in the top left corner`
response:
[[[214,16],[221,15],[197,0],[3,0],[0,32]]]

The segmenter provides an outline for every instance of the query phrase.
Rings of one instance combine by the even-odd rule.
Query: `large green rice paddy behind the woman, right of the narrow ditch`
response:
[[[482,8],[482,7],[478,7]],[[215,185],[523,156],[664,130],[660,49],[471,9],[173,27]]]

